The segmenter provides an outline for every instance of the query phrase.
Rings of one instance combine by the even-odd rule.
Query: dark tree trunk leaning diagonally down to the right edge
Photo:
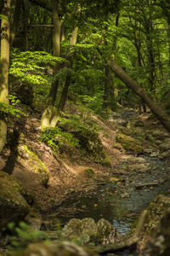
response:
[[[161,108],[159,104],[154,102],[147,92],[140,87],[140,85],[131,79],[127,73],[122,70],[114,59],[106,60],[106,63],[111,67],[112,71],[116,74],[116,76],[122,80],[127,87],[133,90],[150,108],[151,112],[155,114],[156,118],[161,122],[167,131],[170,132],[170,118],[167,113]]]

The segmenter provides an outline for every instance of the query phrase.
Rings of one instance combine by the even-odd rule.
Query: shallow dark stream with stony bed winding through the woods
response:
[[[113,181],[99,185],[94,195],[67,201],[65,204],[75,204],[79,209],[70,218],[94,218],[95,221],[105,218],[125,235],[156,195],[169,195],[170,169],[166,162],[156,157],[129,156],[122,160],[120,168],[129,172],[115,174]],[[61,218],[61,223],[65,224],[70,218]]]

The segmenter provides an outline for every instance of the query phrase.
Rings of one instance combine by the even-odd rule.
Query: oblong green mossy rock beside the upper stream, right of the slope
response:
[[[120,143],[127,153],[142,154],[144,151],[142,144],[137,139],[122,133],[116,135],[116,142]]]

